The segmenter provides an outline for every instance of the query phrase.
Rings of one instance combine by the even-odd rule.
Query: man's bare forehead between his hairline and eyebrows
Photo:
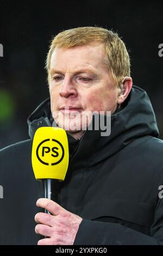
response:
[[[51,57],[51,69],[59,66],[92,66],[99,68],[104,65],[104,51],[102,44],[84,45],[71,48],[55,47]]]

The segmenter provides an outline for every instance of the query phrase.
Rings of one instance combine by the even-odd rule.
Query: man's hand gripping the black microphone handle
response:
[[[47,236],[39,240],[37,245],[73,245],[83,218],[65,210],[50,199],[40,198],[36,205],[52,214],[39,212],[35,215],[35,221],[39,223],[35,227],[36,234]]]

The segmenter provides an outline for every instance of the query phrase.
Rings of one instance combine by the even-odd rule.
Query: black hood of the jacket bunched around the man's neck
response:
[[[133,86],[126,101],[121,104],[111,115],[111,133],[109,136],[101,136],[101,129],[95,129],[95,116],[92,118],[92,130],[87,129],[80,139],[82,156],[87,154],[90,145],[90,154],[99,150],[99,154],[108,157],[121,150],[131,141],[142,136],[158,137],[159,131],[151,101],[145,90]],[[105,119],[107,116],[105,116]],[[52,126],[50,98],[43,101],[28,117],[29,136],[33,139],[35,131],[40,126]],[[75,140],[75,139],[74,139]],[[98,143],[97,143],[98,142]],[[109,148],[108,148],[109,147]],[[86,156],[86,155],[85,155]]]

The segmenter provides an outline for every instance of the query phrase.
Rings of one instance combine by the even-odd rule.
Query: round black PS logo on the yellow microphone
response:
[[[36,148],[37,159],[47,166],[60,163],[64,154],[64,147],[57,139],[44,139]]]

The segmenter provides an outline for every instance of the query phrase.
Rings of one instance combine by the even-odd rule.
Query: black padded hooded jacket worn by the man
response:
[[[28,118],[31,139],[0,151],[1,245],[35,245],[40,239],[34,216],[42,182],[33,174],[32,138],[37,127],[51,124],[47,99]],[[163,245],[158,136],[151,102],[136,86],[111,115],[110,136],[95,129],[79,141],[68,135],[70,163],[65,180],[53,180],[53,200],[83,218],[74,245]]]

